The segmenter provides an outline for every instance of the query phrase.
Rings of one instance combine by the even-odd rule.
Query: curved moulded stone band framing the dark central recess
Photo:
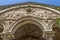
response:
[[[10,31],[14,33],[19,28],[19,26],[18,27],[16,26],[19,23],[20,23],[20,26],[27,24],[27,23],[32,23],[32,24],[37,25],[43,32],[44,32],[44,30],[46,30],[44,22],[42,20],[40,20],[39,18],[36,18],[36,17],[28,16],[28,17],[22,17],[18,21],[16,21],[12,25],[12,28],[10,29]]]

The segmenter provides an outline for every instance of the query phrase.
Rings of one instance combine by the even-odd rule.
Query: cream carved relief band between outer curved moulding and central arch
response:
[[[29,13],[27,11],[29,11]],[[57,17],[59,17],[59,15],[55,14],[54,12],[38,8],[21,8],[18,10],[12,10],[2,14],[0,17],[2,17],[3,19],[19,19],[24,16],[33,16],[40,19],[56,19]]]

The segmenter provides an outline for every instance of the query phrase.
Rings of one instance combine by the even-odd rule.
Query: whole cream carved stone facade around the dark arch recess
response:
[[[15,39],[16,30],[24,24],[31,23],[42,30],[44,39],[53,40],[55,32],[52,26],[57,18],[60,18],[60,12],[50,7],[33,3],[11,6],[0,11],[0,25],[4,27],[0,35],[3,40]]]

